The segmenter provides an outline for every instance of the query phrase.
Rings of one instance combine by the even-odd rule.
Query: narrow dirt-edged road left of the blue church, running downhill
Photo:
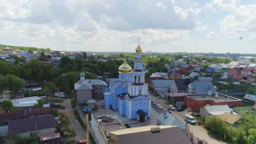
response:
[[[75,141],[80,141],[85,138],[85,129],[80,125],[80,123],[77,121],[73,109],[71,107],[70,101],[71,99],[63,99],[64,102],[61,103],[66,109],[59,109],[59,112],[63,113],[69,118],[69,128],[72,130],[74,128],[76,136],[75,136]]]

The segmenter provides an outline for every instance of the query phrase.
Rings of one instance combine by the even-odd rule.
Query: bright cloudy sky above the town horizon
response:
[[[239,40],[243,35],[243,40]],[[256,0],[0,0],[0,44],[256,53]]]

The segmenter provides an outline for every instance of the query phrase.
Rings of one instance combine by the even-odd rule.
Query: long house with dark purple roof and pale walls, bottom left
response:
[[[54,134],[56,126],[54,115],[38,115],[19,120],[9,120],[8,133],[18,134],[22,138],[30,138],[36,133],[37,137],[40,137]]]

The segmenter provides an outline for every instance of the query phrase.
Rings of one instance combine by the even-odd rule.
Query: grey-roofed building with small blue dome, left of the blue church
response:
[[[85,73],[80,73],[80,80],[75,83],[75,99],[83,104],[89,99],[103,99],[107,83],[102,80],[85,80]]]

